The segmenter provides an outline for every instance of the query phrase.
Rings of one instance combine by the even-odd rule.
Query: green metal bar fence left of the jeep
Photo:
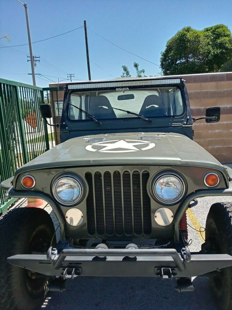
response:
[[[41,116],[43,103],[42,88],[0,79],[0,182],[54,146],[53,128]],[[0,214],[15,201],[4,194],[0,190]]]

